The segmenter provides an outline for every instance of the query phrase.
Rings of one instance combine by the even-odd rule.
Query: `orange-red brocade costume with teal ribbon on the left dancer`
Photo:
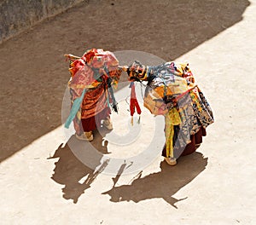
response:
[[[78,135],[96,128],[96,122],[117,112],[113,85],[117,85],[121,70],[119,61],[112,52],[89,49],[82,57],[66,55],[70,61],[71,79],[68,88],[72,109],[65,127],[73,121]]]

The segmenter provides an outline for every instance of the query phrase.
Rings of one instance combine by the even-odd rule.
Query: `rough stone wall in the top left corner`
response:
[[[0,0],[0,43],[84,0]]]

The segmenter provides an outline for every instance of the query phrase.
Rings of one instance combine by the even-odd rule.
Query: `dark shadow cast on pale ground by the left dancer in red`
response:
[[[108,166],[108,160],[102,163],[100,159],[97,159],[94,167],[88,167],[74,155],[73,150],[69,146],[72,146],[74,142],[84,144],[84,146],[92,144],[101,153],[108,153],[108,142],[107,145],[102,146],[102,136],[97,132],[95,137],[95,140],[89,143],[87,141],[79,141],[75,136],[72,136],[64,146],[61,144],[55,150],[55,154],[49,158],[59,158],[55,163],[54,174],[51,176],[51,179],[59,184],[65,185],[62,188],[63,198],[73,199],[73,203],[75,204],[84,191],[90,188],[96,177]],[[86,149],[81,150],[86,151]]]

